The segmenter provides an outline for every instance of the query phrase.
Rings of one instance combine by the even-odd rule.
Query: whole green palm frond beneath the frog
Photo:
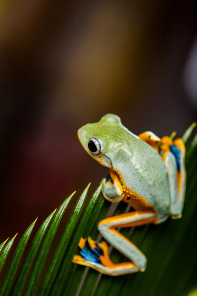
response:
[[[185,141],[188,135],[187,132],[184,134]],[[146,255],[148,264],[144,273],[138,272],[114,278],[101,275],[94,269],[71,263],[73,255],[77,253],[80,237],[91,235],[93,239],[96,239],[99,234],[97,224],[107,216],[110,207],[110,203],[104,200],[100,193],[101,184],[89,200],[78,222],[88,194],[88,185],[76,203],[49,266],[45,268],[51,244],[74,193],[42,223],[15,280],[20,260],[36,220],[29,226],[16,247],[0,287],[0,295],[187,296],[197,286],[196,168],[197,136],[187,149],[187,191],[182,219],[175,221],[168,219],[160,225],[121,230]],[[126,205],[120,203],[114,215],[124,213],[125,210]],[[14,239],[15,236],[0,245],[0,271]],[[125,258],[116,250],[112,250],[111,259],[114,262],[120,262]],[[44,268],[46,269],[45,274],[43,274]],[[43,280],[39,285],[41,276]]]

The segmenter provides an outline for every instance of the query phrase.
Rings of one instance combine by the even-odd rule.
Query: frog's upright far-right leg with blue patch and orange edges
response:
[[[170,214],[173,219],[181,218],[184,206],[186,189],[185,151],[183,140],[176,139],[162,154],[168,171],[171,196]]]

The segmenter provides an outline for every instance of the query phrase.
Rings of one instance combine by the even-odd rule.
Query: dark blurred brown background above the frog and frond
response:
[[[60,235],[107,175],[83,124],[111,112],[135,134],[181,136],[197,119],[196,15],[192,0],[0,0],[0,242],[77,190]]]

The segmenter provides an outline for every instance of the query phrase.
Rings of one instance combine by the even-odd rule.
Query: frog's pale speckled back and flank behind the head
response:
[[[113,168],[118,169],[127,187],[153,205],[158,213],[167,215],[170,192],[164,161],[151,146],[122,128],[124,140],[113,157]]]

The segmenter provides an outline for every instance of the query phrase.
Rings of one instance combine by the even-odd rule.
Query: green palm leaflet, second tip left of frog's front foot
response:
[[[48,295],[49,294],[49,291],[52,287],[54,279],[57,275],[58,268],[60,267],[60,264],[62,262],[64,254],[66,252],[70,237],[72,235],[74,227],[77,223],[77,220],[78,220],[81,210],[83,208],[84,201],[85,201],[86,196],[88,194],[89,186],[90,186],[90,184],[85,188],[85,190],[81,194],[81,196],[80,196],[80,198],[79,198],[79,200],[78,200],[78,202],[77,202],[77,204],[76,204],[76,206],[75,206],[75,208],[74,208],[74,210],[67,222],[64,233],[60,239],[58,247],[57,247],[57,249],[53,255],[53,258],[49,264],[49,267],[47,269],[47,272],[45,274],[45,277],[42,281],[42,284],[39,288],[37,295]]]

